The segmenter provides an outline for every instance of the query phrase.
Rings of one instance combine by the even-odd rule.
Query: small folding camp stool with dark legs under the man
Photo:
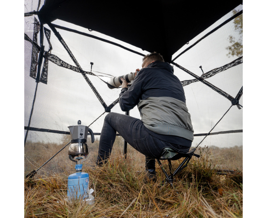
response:
[[[161,153],[160,158],[158,158],[156,160],[159,163],[159,166],[160,166],[161,170],[164,172],[164,174],[166,176],[165,182],[170,183],[171,186],[173,187],[173,184],[172,184],[173,183],[173,177],[178,172],[182,171],[185,167],[187,167],[187,164],[190,161],[190,159],[192,158],[192,156],[200,157],[199,155],[194,154],[195,151],[196,151],[196,148],[193,148],[189,152],[182,154],[182,153],[178,153],[178,152],[174,151],[171,148],[165,148],[163,150],[163,152]],[[172,173],[171,161],[172,160],[178,160],[178,159],[180,159],[182,157],[184,157],[184,160],[178,166],[178,168]],[[160,160],[168,160],[168,166],[169,166],[170,175],[168,175],[167,172],[164,170]]]

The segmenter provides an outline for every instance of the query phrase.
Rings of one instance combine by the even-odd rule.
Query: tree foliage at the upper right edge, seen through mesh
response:
[[[239,11],[233,10],[233,14],[235,15]],[[229,51],[227,56],[230,58],[231,56],[241,57],[243,55],[243,14],[234,18],[234,30],[239,33],[239,37],[236,40],[234,36],[230,35],[228,37],[231,46],[226,47]]]

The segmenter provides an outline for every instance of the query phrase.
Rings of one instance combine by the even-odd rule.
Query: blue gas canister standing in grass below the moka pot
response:
[[[88,197],[89,174],[82,172],[83,164],[76,164],[76,172],[68,176],[67,197],[69,200]]]

